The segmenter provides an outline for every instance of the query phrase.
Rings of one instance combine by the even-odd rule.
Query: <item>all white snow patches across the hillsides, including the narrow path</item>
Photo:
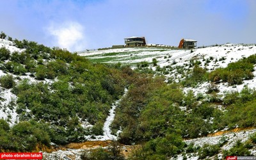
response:
[[[23,52],[24,49],[18,49],[15,47],[13,42],[8,40],[0,40],[0,47],[5,47],[13,52]],[[164,76],[166,77],[166,82],[175,81],[179,83],[184,80],[184,72],[189,72],[191,70],[191,63],[197,61],[198,65],[202,68],[205,68],[207,72],[211,72],[212,70],[216,70],[216,68],[224,68],[227,67],[229,63],[236,62],[243,58],[247,58],[256,54],[256,45],[250,44],[236,44],[236,45],[218,45],[214,47],[204,47],[193,50],[182,50],[182,49],[164,49],[164,48],[124,48],[124,49],[109,49],[103,51],[89,51],[85,53],[79,53],[80,56],[84,56],[95,63],[121,63],[131,65],[132,68],[138,67],[138,64],[143,62],[148,62],[149,67],[151,68],[155,74],[163,74],[162,71],[159,71],[164,68],[166,71]],[[157,66],[153,66],[152,61],[156,59]],[[8,61],[8,60],[7,60]],[[160,68],[160,69],[159,69]],[[182,72],[180,72],[179,68],[182,68]],[[255,71],[253,71],[253,79],[243,80],[242,84],[228,85],[228,83],[217,83],[214,84],[218,87],[219,92],[217,95],[223,96],[225,92],[237,91],[240,92],[243,90],[244,86],[248,86],[248,88],[256,88],[256,67],[254,66]],[[0,77],[6,76],[6,72],[0,70]],[[21,79],[29,79],[30,82],[36,82],[38,80],[35,77],[29,76],[29,73],[24,74],[23,76],[17,76],[12,74],[15,79],[15,82],[18,83]],[[51,84],[57,79],[45,79],[43,83]],[[212,83],[210,81],[204,81],[203,83],[198,83],[196,86],[184,87],[184,93],[188,93],[189,90],[192,90],[195,95],[198,93],[202,93],[203,95],[207,94],[208,86]],[[125,93],[127,90],[125,90]],[[3,118],[12,126],[19,122],[19,115],[16,113],[16,101],[17,96],[11,92],[11,89],[6,89],[0,86],[0,119]],[[106,119],[104,124],[104,135],[103,136],[86,136],[88,140],[116,140],[116,136],[111,134],[111,129],[109,126],[115,117],[115,108],[118,104],[119,100],[111,106],[111,110],[109,111],[109,116]],[[220,105],[221,108],[221,105]],[[27,109],[27,112],[30,112]],[[87,120],[81,120],[79,118],[79,122],[83,128],[93,127]],[[215,131],[214,131],[215,132]],[[227,144],[223,146],[223,149],[227,150],[236,140],[247,140],[250,134],[255,132],[251,131],[241,131],[237,133],[229,133],[225,134],[227,137]],[[92,139],[93,137],[93,139]],[[202,147],[204,143],[210,143],[212,145],[218,143],[223,136],[216,137],[205,137],[205,138],[195,138],[192,140],[185,140],[185,142],[189,145],[189,143],[195,143]],[[68,151],[69,152],[69,151]],[[56,152],[55,155],[61,154],[70,154],[65,151]],[[77,157],[77,153],[81,152],[81,150],[72,150],[72,155],[74,154],[75,159]],[[252,150],[255,153],[255,150]],[[54,153],[53,153],[54,155]],[[49,154],[48,156],[52,156]],[[188,155],[189,156],[189,155]],[[54,157],[54,156],[53,156]],[[58,156],[57,156],[58,157]],[[193,157],[193,156],[191,156]],[[182,159],[182,156],[178,156],[179,159]],[[198,157],[194,156],[193,159],[197,159]],[[58,159],[58,158],[57,158]]]

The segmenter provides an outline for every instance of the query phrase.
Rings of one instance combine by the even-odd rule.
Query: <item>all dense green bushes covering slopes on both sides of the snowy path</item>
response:
[[[164,77],[148,74],[153,70],[147,69],[146,62],[139,64],[140,72],[136,72],[120,64],[112,67],[93,65],[76,54],[28,40],[14,42],[26,51],[11,54],[0,49],[0,67],[4,72],[22,75],[20,77],[29,72],[35,82],[24,79],[15,84],[12,76],[0,78],[1,86],[13,88],[12,92],[17,95],[20,121],[28,121],[10,128],[0,120],[0,147],[3,149],[27,151],[38,144],[65,144],[84,141],[84,135],[102,134],[111,104],[120,98],[125,87],[129,87],[129,92],[116,108],[111,127],[114,133],[122,130],[122,143],[145,143],[134,153],[134,159],[169,159],[184,150],[182,138],[206,136],[227,126],[251,127],[256,124],[253,109],[256,93],[253,90],[244,88],[241,93],[227,93],[220,99],[214,95],[218,90],[213,86],[209,86],[212,95],[206,98],[195,96],[192,90],[184,93],[181,88],[181,84],[196,86],[207,79],[230,85],[252,79],[255,56],[212,72],[199,67],[200,61],[196,61],[181,84],[166,84]],[[156,65],[157,61],[153,63]],[[182,67],[176,69],[179,74],[186,74]],[[45,79],[51,79],[50,83],[43,81]],[[217,104],[224,104],[225,112],[220,111]],[[82,122],[89,122],[93,127],[85,129]],[[10,141],[17,143],[10,144]],[[189,150],[192,152],[194,148]],[[218,145],[205,145],[198,156],[204,159],[219,150]],[[93,151],[87,158],[99,155],[113,159],[111,151],[104,149]]]

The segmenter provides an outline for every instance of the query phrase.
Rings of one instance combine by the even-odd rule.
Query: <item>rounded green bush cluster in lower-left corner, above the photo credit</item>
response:
[[[31,120],[11,128],[5,120],[0,120],[0,149],[6,152],[31,152],[36,147],[49,147],[53,137],[49,124]]]

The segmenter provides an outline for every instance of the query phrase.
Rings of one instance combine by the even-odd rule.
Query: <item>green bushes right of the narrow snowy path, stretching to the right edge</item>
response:
[[[127,96],[120,103],[120,108],[116,110],[113,128],[116,131],[122,127],[122,143],[152,143],[173,132],[179,132],[182,138],[197,138],[207,136],[216,129],[220,131],[224,127],[231,129],[238,125],[243,128],[256,124],[256,115],[253,112],[253,106],[256,105],[255,90],[244,87],[241,92],[225,93],[223,99],[212,94],[206,97],[207,100],[200,98],[203,100],[198,103],[198,97],[192,91],[184,94],[178,84],[166,85],[160,77],[140,78],[133,81]],[[215,103],[224,104],[226,111],[216,108]],[[177,106],[186,107],[189,113]],[[221,145],[223,144],[205,146],[198,155],[201,159],[214,156],[220,152]],[[136,154],[140,157],[145,152],[138,150]],[[149,157],[154,156],[164,159],[166,153],[159,156],[155,150]]]

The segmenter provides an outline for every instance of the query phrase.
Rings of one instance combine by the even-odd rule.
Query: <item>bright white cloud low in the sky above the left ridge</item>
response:
[[[54,36],[54,45],[66,48],[68,51],[81,51],[86,47],[84,28],[78,22],[52,23],[47,28],[48,33]]]

